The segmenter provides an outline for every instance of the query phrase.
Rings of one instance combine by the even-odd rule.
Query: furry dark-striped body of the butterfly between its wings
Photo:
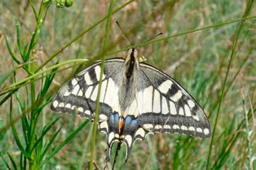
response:
[[[136,98],[138,70],[138,51],[136,51],[135,48],[131,48],[128,51],[128,55],[125,57],[124,67],[122,69],[123,81],[120,84],[118,92],[121,111],[120,116],[127,116],[128,113],[125,113],[125,110],[127,110],[128,106],[131,106],[131,103]]]

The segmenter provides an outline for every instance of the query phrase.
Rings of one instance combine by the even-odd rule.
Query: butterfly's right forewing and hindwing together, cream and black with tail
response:
[[[149,133],[168,132],[210,137],[210,124],[194,98],[165,73],[141,63],[136,98],[125,111],[123,142],[126,156],[136,140]]]

